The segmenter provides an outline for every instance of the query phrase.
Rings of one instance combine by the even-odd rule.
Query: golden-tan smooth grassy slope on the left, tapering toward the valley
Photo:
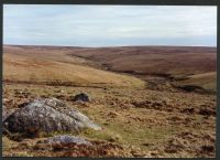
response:
[[[84,86],[132,86],[142,87],[144,82],[127,75],[119,75],[84,65],[85,61],[68,57],[58,52],[41,53],[26,49],[21,54],[10,49],[3,55],[3,78],[19,82],[68,82]],[[41,54],[41,56],[38,55]],[[61,61],[62,60],[62,61]]]

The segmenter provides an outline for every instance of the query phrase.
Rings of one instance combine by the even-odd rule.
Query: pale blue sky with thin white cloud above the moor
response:
[[[217,46],[217,7],[4,4],[3,44]]]

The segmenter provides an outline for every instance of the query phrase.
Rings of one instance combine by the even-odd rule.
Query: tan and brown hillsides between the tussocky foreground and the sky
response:
[[[216,67],[216,47],[3,46],[3,81],[9,83],[143,88],[153,77],[215,92]]]

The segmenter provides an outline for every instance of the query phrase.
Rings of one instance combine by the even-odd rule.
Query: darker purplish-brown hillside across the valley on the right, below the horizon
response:
[[[178,85],[197,85],[216,90],[217,51],[215,47],[139,46],[85,49],[72,55],[105,64],[111,71],[144,75],[168,75]]]

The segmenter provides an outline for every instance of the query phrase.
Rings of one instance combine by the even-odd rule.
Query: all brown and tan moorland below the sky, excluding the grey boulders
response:
[[[3,46],[3,106],[57,98],[102,129],[2,137],[6,157],[211,158],[217,50],[201,46]],[[85,93],[88,102],[73,100]],[[10,115],[10,114],[9,114]],[[57,135],[92,146],[47,146]]]

